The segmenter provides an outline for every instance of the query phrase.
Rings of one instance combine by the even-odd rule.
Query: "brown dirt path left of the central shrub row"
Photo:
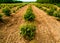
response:
[[[0,28],[0,43],[24,43],[25,40],[20,37],[19,26],[24,23],[23,15],[28,6],[18,10],[15,15],[9,17],[10,22]]]

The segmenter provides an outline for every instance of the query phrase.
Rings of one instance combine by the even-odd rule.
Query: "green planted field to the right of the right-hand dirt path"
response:
[[[47,12],[47,14],[57,17],[57,20],[60,20],[60,7],[54,4],[35,4],[36,7]]]

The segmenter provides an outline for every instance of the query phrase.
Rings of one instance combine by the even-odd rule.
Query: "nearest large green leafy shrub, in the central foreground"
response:
[[[33,40],[36,27],[33,24],[24,24],[20,27],[20,34],[27,40]]]

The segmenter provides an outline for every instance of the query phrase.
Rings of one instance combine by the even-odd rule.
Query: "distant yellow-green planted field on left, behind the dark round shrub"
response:
[[[16,3],[16,4],[0,4],[0,13],[2,13],[2,10],[4,8],[9,8],[11,10],[11,13],[15,13],[19,8],[27,5],[27,3]]]

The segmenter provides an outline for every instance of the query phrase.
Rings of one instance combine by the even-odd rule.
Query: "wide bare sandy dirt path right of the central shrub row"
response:
[[[60,23],[37,7],[32,9],[36,16],[37,43],[60,43]]]

